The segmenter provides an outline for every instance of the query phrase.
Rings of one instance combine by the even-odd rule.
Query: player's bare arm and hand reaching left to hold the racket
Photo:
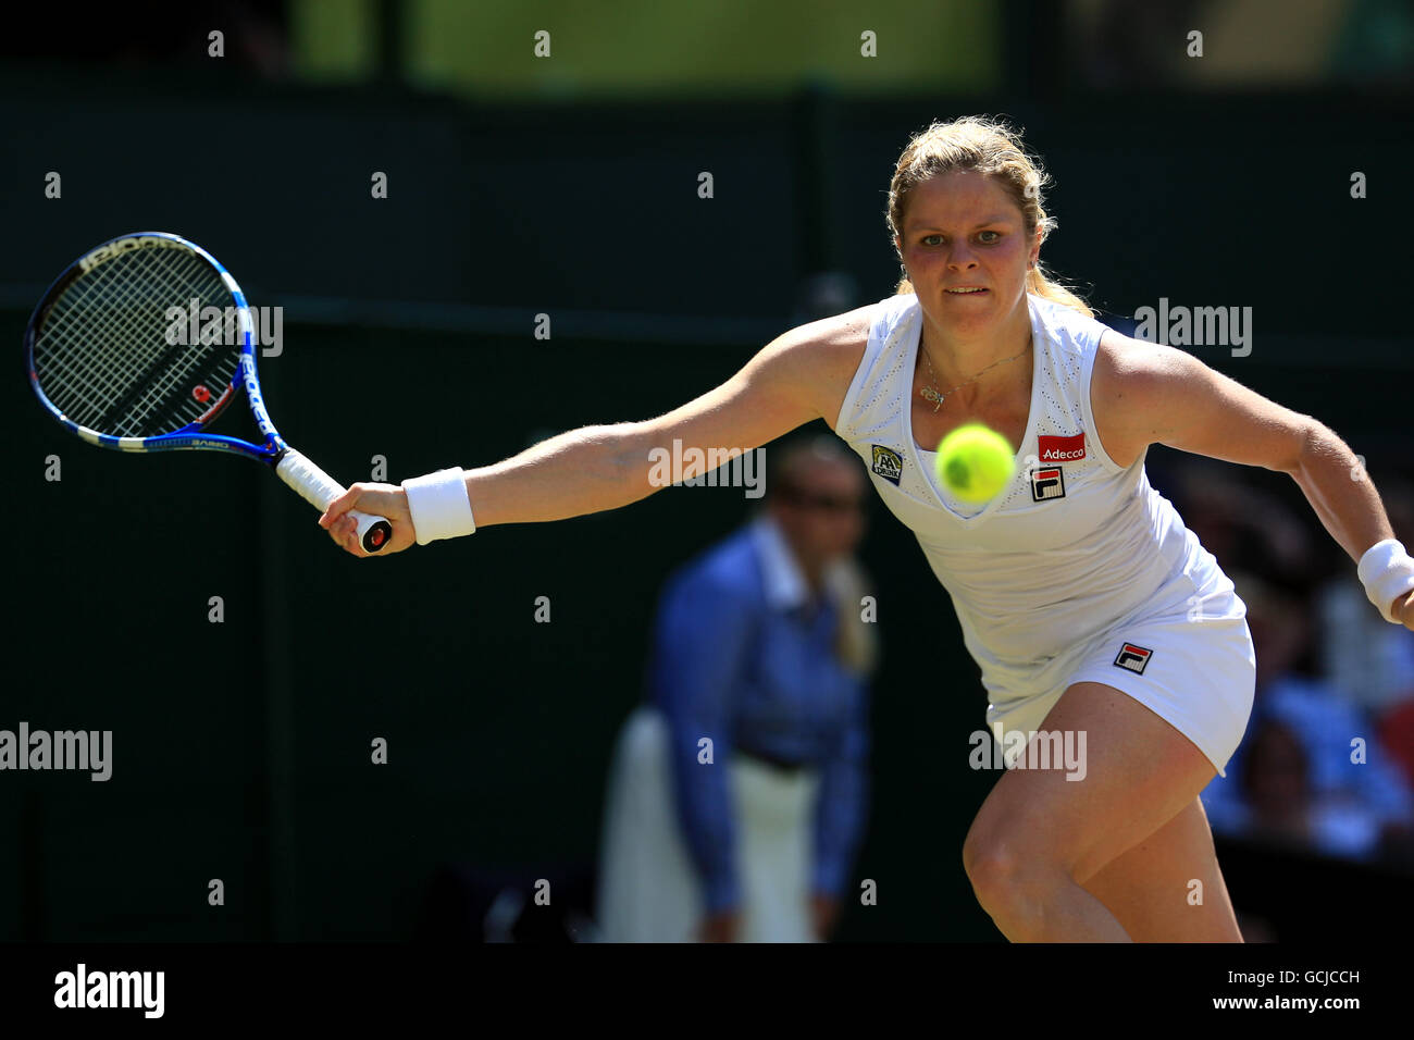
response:
[[[533,524],[617,509],[653,494],[655,449],[667,458],[689,447],[749,451],[814,419],[833,427],[864,344],[868,308],[783,333],[731,379],[680,408],[641,422],[584,426],[540,441],[510,458],[465,473],[477,528]],[[680,441],[673,451],[673,441]],[[697,475],[693,468],[680,477]],[[349,509],[387,516],[399,552],[416,541],[406,492],[387,484],[355,484],[320,524],[355,556]]]

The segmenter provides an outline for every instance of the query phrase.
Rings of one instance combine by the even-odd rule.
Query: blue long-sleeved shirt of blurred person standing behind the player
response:
[[[817,765],[816,893],[840,896],[864,826],[867,681],[834,652],[837,616],[812,601],[778,526],[761,518],[669,579],[649,698],[667,720],[677,815],[708,913],[740,904],[725,763],[732,750]],[[699,763],[699,740],[713,764]]]

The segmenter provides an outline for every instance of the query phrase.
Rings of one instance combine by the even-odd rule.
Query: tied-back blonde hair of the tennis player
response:
[[[902,241],[904,214],[913,188],[925,181],[950,173],[973,171],[995,177],[1012,202],[1021,209],[1028,241],[1041,229],[1045,242],[1056,228],[1056,219],[1042,207],[1041,188],[1051,183],[1041,164],[1021,146],[1021,134],[1001,120],[983,116],[963,116],[950,123],[935,122],[913,134],[894,167],[888,185],[889,239]],[[894,246],[898,252],[898,245]],[[902,262],[902,255],[899,255]],[[908,277],[899,279],[895,296],[912,293]],[[1027,291],[1053,303],[1073,307],[1086,317],[1094,311],[1072,289],[1048,276],[1041,260],[1027,272]]]

